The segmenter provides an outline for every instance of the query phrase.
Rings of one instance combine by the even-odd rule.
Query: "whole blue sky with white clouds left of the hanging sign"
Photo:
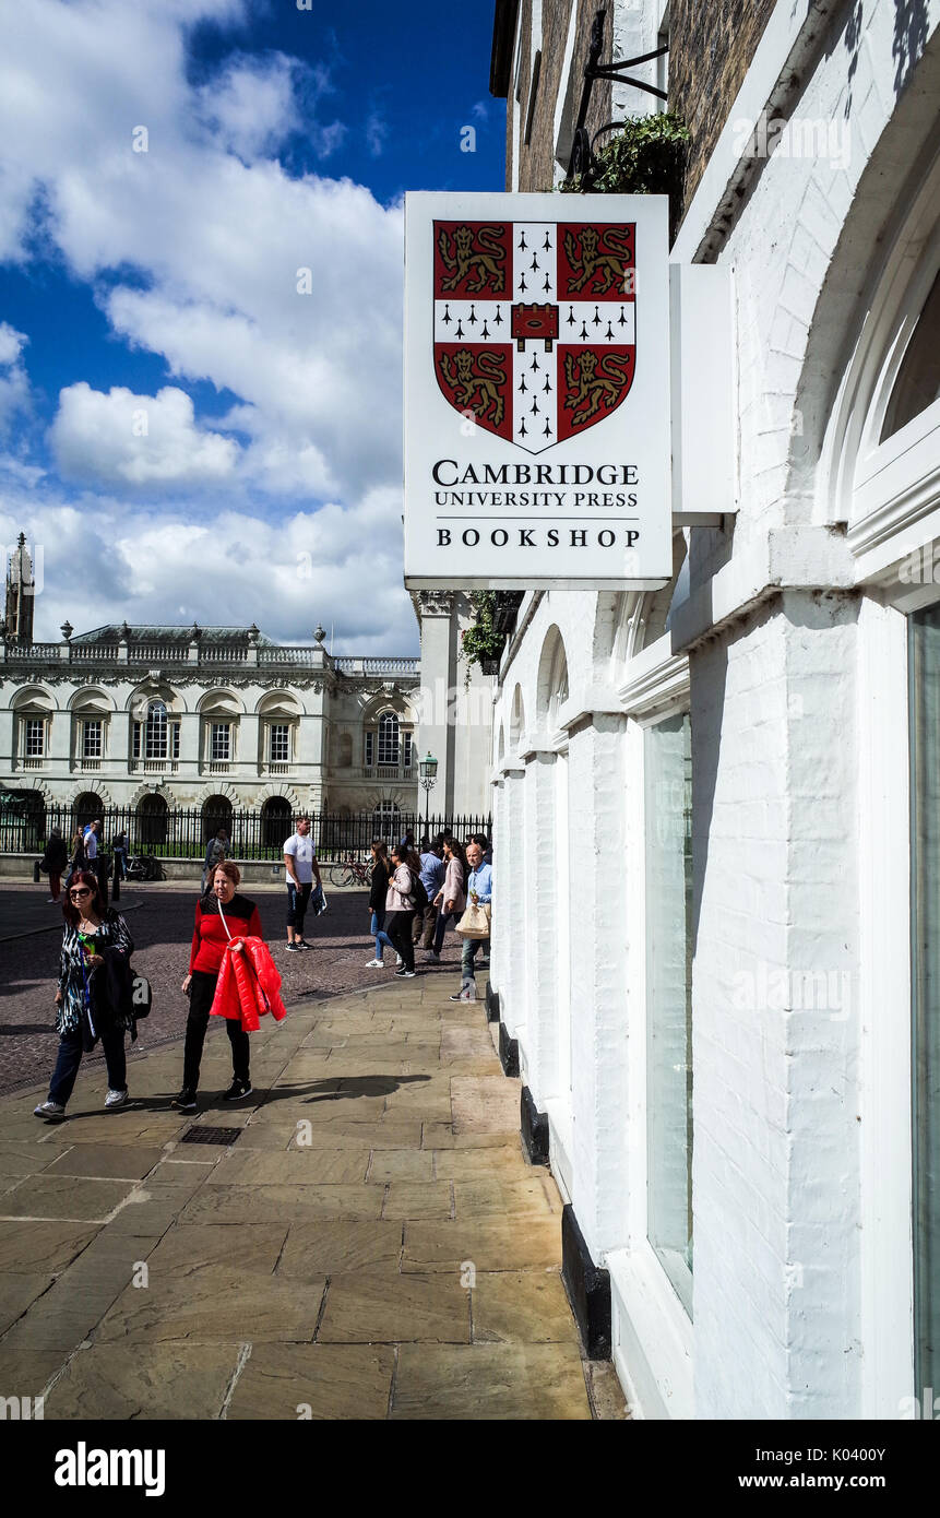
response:
[[[43,551],[38,636],[415,648],[401,197],[503,188],[491,35],[491,0],[3,8],[0,533]]]

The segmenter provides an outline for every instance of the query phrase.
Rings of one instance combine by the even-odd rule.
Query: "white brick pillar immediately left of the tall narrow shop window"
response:
[[[571,1201],[595,1263],[626,1243],[624,738],[626,716],[610,713],[571,732],[571,836],[559,871],[571,911]]]

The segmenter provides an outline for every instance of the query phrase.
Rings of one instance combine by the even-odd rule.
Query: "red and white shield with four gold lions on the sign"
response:
[[[434,222],[445,399],[530,454],[624,402],[636,370],[636,225]]]

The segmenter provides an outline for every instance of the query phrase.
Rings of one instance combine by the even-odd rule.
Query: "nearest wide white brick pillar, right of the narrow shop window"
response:
[[[855,618],[691,654],[699,1418],[861,1413]]]

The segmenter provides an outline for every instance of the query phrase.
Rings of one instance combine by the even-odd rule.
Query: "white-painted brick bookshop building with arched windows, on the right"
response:
[[[583,1331],[636,1413],[919,1416],[940,1384],[940,3],[670,15],[609,5],[604,61],[610,23],[633,55],[670,24],[694,128],[671,261],[729,272],[733,483],[720,525],[676,524],[665,591],[522,601],[491,1016],[569,1202]],[[589,21],[497,6],[495,59],[542,47],[557,77],[538,164],[506,83],[510,185],[557,181],[571,32],[560,71],[545,52]]]

